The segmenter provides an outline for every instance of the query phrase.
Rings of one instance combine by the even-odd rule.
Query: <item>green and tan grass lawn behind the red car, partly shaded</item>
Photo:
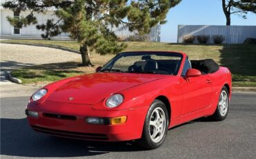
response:
[[[64,46],[79,50],[79,44],[75,41],[48,41],[30,39],[10,39],[12,43],[34,43]],[[124,51],[132,50],[176,50],[187,53],[190,59],[214,59],[219,65],[230,68],[232,72],[233,86],[256,86],[256,45],[232,44],[232,45],[201,45],[201,44],[168,44],[154,42],[126,42],[128,47]],[[24,84],[38,82],[53,82],[64,77],[92,73],[97,66],[102,66],[113,55],[98,55],[91,53],[92,68],[79,67],[77,62],[61,64],[44,64],[20,68],[12,72],[20,78]]]

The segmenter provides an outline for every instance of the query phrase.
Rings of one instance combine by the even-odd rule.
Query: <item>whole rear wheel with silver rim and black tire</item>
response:
[[[226,86],[223,86],[221,93],[219,95],[219,102],[216,111],[210,118],[212,120],[221,121],[225,120],[228,116],[228,105],[229,105],[229,95]]]

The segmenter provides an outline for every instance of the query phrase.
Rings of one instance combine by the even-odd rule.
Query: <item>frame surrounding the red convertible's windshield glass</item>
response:
[[[134,56],[136,56],[136,55],[138,55],[138,56],[139,55],[156,55],[156,56],[166,56],[166,57],[181,57],[181,59],[179,59],[178,69],[177,69],[176,73],[173,74],[173,75],[178,75],[179,74],[180,69],[181,69],[181,64],[183,63],[183,57],[184,57],[182,53],[167,52],[167,51],[131,51],[131,52],[122,52],[122,53],[118,53],[115,57],[113,57],[111,60],[109,60],[109,62],[104,64],[104,66],[102,66],[102,68],[100,69],[99,72],[104,72],[102,70],[109,70],[109,66],[112,65],[110,67],[110,69],[111,69],[113,67],[113,64],[115,64],[115,62],[118,59],[120,59],[122,57],[132,56],[132,55],[134,55]],[[115,72],[115,73],[128,73],[128,72]],[[134,72],[134,73],[136,73],[136,72]],[[138,73],[138,74],[141,74],[141,73]],[[161,75],[161,74],[158,74],[158,73],[154,73],[154,74],[155,75]],[[172,75],[172,74],[167,74],[167,75]]]

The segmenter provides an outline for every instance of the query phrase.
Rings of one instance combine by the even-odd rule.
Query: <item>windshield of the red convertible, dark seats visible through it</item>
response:
[[[182,55],[179,53],[120,53],[103,66],[100,72],[177,75],[181,59]]]

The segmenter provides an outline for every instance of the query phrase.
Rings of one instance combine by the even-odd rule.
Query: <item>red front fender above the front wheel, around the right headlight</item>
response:
[[[124,95],[124,102],[117,106],[116,108],[109,109],[104,99],[98,104],[93,106],[93,109],[100,110],[124,110],[124,109],[136,109],[142,106],[149,106],[156,99],[156,97],[163,95],[167,97],[172,106],[172,118],[179,117],[182,108],[182,89],[181,81],[179,76],[170,76],[164,79],[158,79],[153,82],[148,82],[146,84],[141,84],[139,86],[134,86],[127,88],[126,90],[118,92]]]

